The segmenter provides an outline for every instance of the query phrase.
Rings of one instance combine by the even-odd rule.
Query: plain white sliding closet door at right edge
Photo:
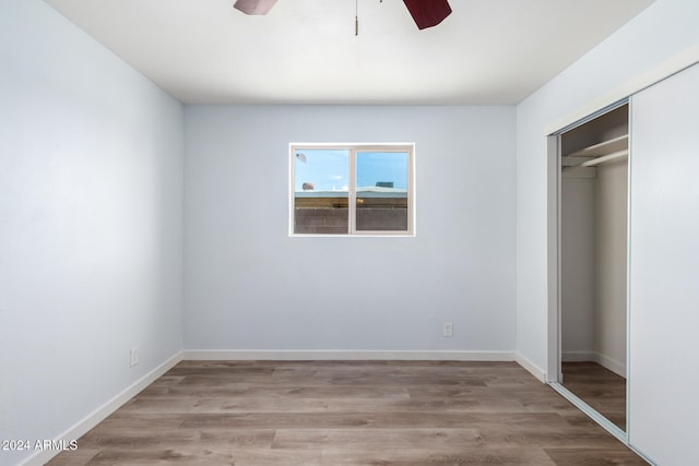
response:
[[[629,443],[699,458],[699,65],[631,100]]]

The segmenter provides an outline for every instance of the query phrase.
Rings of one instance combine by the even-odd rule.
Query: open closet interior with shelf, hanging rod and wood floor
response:
[[[560,377],[626,430],[629,106],[559,134]]]

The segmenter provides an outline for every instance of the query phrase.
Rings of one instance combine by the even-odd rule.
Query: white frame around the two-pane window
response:
[[[348,228],[346,234],[299,234],[294,231],[295,191],[294,160],[297,150],[347,150],[350,152]],[[407,229],[406,230],[357,230],[356,228],[356,153],[357,152],[401,152],[407,153]],[[289,143],[289,237],[415,237],[415,143]]]

